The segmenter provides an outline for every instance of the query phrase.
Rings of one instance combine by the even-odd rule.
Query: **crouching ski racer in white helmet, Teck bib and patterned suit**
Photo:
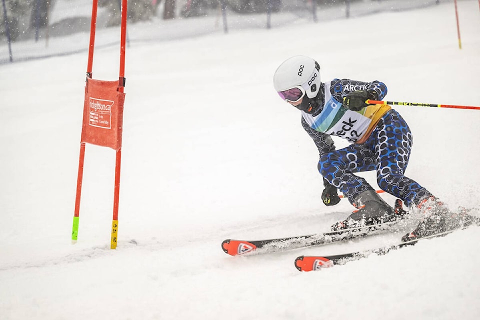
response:
[[[404,175],[412,146],[407,123],[389,105],[366,103],[367,99],[383,99],[387,92],[384,83],[350,79],[321,82],[319,64],[311,57],[297,55],[278,66],[273,85],[283,100],[301,111],[301,125],[318,148],[323,203],[337,204],[339,189],[356,207],[346,219],[333,224],[332,230],[398,218],[371,185],[354,174],[369,170],[376,170],[382,190],[423,214],[403,241],[471,223],[471,216],[452,214],[431,192]],[[331,135],[351,144],[336,150]]]

